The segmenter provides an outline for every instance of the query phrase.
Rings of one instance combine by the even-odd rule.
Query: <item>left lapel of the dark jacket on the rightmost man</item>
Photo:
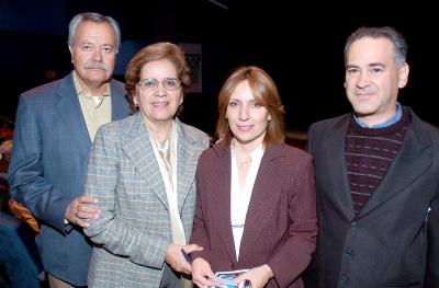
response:
[[[349,117],[347,116],[333,127],[331,134],[325,139],[323,145],[325,157],[327,158],[324,161],[326,171],[318,171],[316,173],[329,174],[333,183],[328,186],[334,187],[334,189],[329,191],[329,194],[326,196],[336,201],[337,206],[345,211],[348,219],[352,219],[354,210],[345,162],[345,138],[348,125]],[[335,196],[331,197],[333,195]]]

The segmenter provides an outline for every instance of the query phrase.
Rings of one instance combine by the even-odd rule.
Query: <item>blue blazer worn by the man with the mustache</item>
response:
[[[112,80],[112,119],[130,113],[125,90]],[[87,283],[91,246],[64,214],[82,184],[91,140],[72,73],[20,96],[9,166],[11,194],[42,221],[37,238],[45,270],[74,285]]]

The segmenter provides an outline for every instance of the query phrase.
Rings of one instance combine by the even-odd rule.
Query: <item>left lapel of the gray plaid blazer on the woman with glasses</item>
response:
[[[122,127],[126,131],[123,136],[123,149],[136,170],[156,193],[159,200],[169,209],[164,180],[161,178],[160,169],[154,154],[145,123],[138,112],[131,116],[131,122],[126,122],[126,127]],[[155,171],[155,173],[151,173],[151,171]]]

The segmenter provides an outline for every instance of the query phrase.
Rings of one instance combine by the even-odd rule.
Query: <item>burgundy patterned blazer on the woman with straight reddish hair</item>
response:
[[[267,287],[303,287],[301,273],[315,249],[316,215],[312,158],[286,145],[262,157],[247,211],[239,261],[230,223],[230,152],[223,142],[202,153],[196,169],[198,203],[191,243],[204,247],[192,257],[213,269],[268,264]]]

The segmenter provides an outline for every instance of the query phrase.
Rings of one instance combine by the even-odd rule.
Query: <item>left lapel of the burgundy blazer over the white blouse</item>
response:
[[[218,173],[218,176],[215,178],[215,184],[217,184],[218,188],[211,195],[212,203],[216,204],[216,209],[210,212],[216,215],[214,219],[217,219],[215,224],[221,241],[233,263],[237,263],[230,220],[230,151],[224,150],[223,142],[215,145],[214,150],[218,157],[217,161],[213,163]]]

